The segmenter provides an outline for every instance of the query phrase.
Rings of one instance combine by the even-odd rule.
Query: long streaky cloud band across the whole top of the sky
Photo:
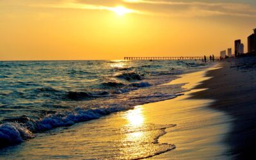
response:
[[[256,17],[256,8],[247,3],[212,3],[176,0],[2,0],[9,4],[47,8],[72,8],[79,10],[105,10],[115,12],[118,5],[128,13],[163,17]],[[1,2],[0,2],[1,4]]]

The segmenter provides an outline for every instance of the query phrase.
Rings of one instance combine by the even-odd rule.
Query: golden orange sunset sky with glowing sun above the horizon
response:
[[[0,60],[219,56],[253,28],[255,0],[1,0]]]

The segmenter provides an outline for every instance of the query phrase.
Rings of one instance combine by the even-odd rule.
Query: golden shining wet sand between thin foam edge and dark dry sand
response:
[[[203,81],[213,79],[208,72],[218,68],[209,68],[202,72],[186,74],[170,84],[188,83],[184,88],[191,90],[177,99],[166,100],[154,104],[146,104],[145,111],[150,115],[148,119],[157,123],[175,123],[177,126],[168,129],[160,142],[172,142],[175,150],[166,152],[152,159],[232,159],[227,152],[228,144],[223,143],[232,128],[232,117],[223,111],[211,108],[216,100],[211,97],[202,99],[193,96],[208,88],[195,88]],[[161,111],[159,111],[161,109]],[[160,112],[160,113],[159,113]],[[158,113],[158,114],[156,114]]]

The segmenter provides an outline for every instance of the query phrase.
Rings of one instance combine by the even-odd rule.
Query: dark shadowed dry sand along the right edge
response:
[[[223,68],[207,72],[214,78],[204,81],[191,99],[215,99],[209,108],[232,117],[232,127],[223,141],[232,159],[254,157],[256,142],[256,67],[255,58],[232,58],[221,62]],[[253,85],[254,84],[254,85]]]

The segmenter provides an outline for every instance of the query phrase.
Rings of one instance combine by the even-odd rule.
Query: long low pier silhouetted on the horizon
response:
[[[202,60],[204,56],[196,57],[124,57],[124,60]],[[207,60],[210,58],[207,57]],[[220,60],[220,57],[214,57],[214,60]]]

